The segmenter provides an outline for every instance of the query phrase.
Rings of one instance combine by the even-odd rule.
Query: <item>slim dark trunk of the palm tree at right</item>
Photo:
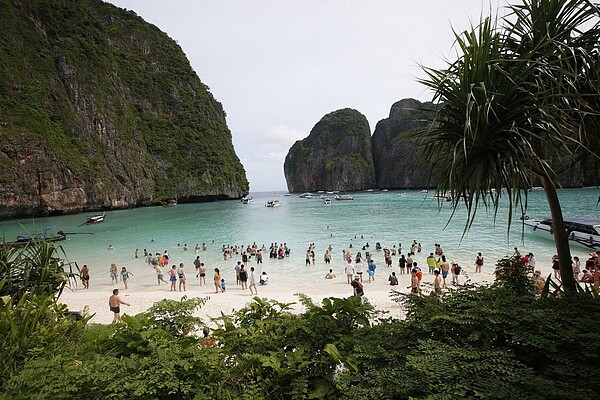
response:
[[[558,201],[558,193],[556,192],[556,186],[554,186],[551,179],[546,176],[542,176],[541,178],[544,185],[544,191],[546,192],[548,206],[550,207],[550,214],[552,216],[554,243],[556,245],[560,263],[560,280],[565,294],[567,296],[574,295],[577,293],[577,285],[575,283],[575,278],[573,277],[573,260],[571,260],[569,237],[565,230],[565,222],[560,208],[560,202]]]

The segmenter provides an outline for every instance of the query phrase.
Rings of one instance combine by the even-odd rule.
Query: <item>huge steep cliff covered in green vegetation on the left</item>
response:
[[[158,28],[99,0],[0,15],[0,218],[247,193],[221,104]]]

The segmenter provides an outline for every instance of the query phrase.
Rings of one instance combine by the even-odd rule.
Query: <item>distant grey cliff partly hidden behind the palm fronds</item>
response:
[[[410,135],[427,127],[434,109],[432,103],[414,99],[400,100],[390,116],[377,123],[373,133],[373,162],[378,188],[407,189],[429,185],[429,171],[419,167],[420,150]]]

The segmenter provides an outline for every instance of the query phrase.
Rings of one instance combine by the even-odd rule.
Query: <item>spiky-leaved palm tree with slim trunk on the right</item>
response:
[[[557,195],[558,175],[598,143],[600,12],[582,0],[523,0],[500,20],[455,33],[458,60],[424,68],[421,82],[441,107],[419,133],[423,158],[443,171],[438,192],[456,211],[466,204],[465,232],[477,207],[499,207],[502,189],[513,211],[527,209],[527,190],[541,180],[553,224],[565,292],[576,292]],[[495,189],[495,190],[492,190]],[[462,197],[459,195],[463,195]],[[461,200],[463,199],[463,200]],[[509,228],[510,229],[510,228]]]

